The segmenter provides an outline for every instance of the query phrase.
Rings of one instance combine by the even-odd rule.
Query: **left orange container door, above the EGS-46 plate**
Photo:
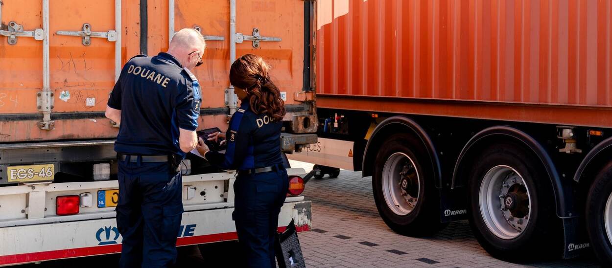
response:
[[[116,1],[48,2],[48,87],[53,101],[39,96],[46,76],[43,40],[18,36],[15,42],[1,36],[0,142],[114,137],[117,128],[103,111],[115,81]],[[5,1],[1,9],[3,30],[43,31],[42,1]],[[51,111],[48,130],[41,129],[41,106]]]

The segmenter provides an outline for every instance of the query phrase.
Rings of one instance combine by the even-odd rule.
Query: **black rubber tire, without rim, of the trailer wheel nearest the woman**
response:
[[[405,236],[430,236],[435,234],[447,223],[440,222],[440,194],[435,187],[430,161],[422,157],[427,152],[419,149],[419,144],[410,135],[392,135],[381,147],[376,155],[374,173],[372,176],[372,190],[378,213],[384,222],[399,234]],[[383,169],[391,155],[400,152],[408,155],[414,162],[414,168],[419,174],[418,201],[411,212],[406,215],[396,214],[389,208],[383,193]],[[420,157],[417,157],[419,155]]]

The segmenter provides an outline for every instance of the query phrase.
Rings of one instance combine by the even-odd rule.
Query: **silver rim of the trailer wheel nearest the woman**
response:
[[[387,207],[397,215],[408,215],[419,201],[420,177],[414,161],[396,152],[383,167],[383,196]]]

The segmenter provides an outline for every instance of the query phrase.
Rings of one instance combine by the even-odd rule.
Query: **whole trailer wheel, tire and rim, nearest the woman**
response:
[[[416,151],[419,141],[405,134],[393,135],[376,155],[372,189],[378,213],[397,233],[428,236],[443,229],[440,196],[433,182],[427,155]]]

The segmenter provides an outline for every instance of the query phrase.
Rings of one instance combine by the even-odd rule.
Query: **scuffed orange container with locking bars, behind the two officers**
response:
[[[194,71],[204,96],[200,128],[226,127],[236,101],[233,90],[225,94],[231,58],[247,53],[272,65],[288,121],[312,117],[312,102],[294,100],[310,89],[311,13],[303,1],[8,0],[0,7],[0,143],[114,138],[118,128],[103,111],[122,65],[167,50],[170,33],[185,27],[207,39],[204,65]]]

